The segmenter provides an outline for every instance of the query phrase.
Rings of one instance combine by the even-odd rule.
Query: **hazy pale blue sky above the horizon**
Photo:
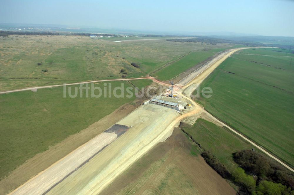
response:
[[[294,1],[1,0],[0,23],[294,36]]]

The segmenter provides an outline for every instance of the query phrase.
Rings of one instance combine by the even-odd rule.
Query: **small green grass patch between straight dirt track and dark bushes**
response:
[[[234,135],[224,127],[219,127],[202,118],[197,119],[192,127],[183,127],[201,147],[216,156],[225,167],[235,168],[232,153],[252,149],[252,145]],[[231,169],[228,169],[231,171]]]

